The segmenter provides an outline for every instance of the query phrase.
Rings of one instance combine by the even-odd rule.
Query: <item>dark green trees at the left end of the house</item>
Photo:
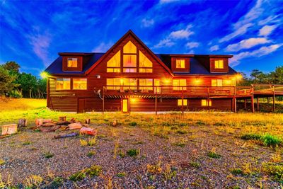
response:
[[[46,79],[20,72],[16,62],[0,65],[0,96],[12,98],[46,98]]]

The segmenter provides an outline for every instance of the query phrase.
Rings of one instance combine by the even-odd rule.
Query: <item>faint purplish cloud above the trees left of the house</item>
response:
[[[46,33],[44,35],[28,35],[28,39],[30,40],[30,45],[33,46],[33,52],[35,55],[39,57],[43,64],[47,67],[50,64],[50,59],[48,56],[48,47],[50,46],[51,36]]]

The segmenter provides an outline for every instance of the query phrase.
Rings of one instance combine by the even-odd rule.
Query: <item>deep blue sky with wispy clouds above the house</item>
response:
[[[38,75],[58,52],[105,52],[131,29],[156,53],[234,55],[247,74],[283,64],[283,1],[0,1],[0,64]]]

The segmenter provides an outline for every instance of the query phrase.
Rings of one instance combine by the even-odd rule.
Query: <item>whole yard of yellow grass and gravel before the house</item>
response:
[[[0,188],[280,188],[280,113],[59,113],[44,100],[1,103],[0,125],[28,128],[0,139]],[[98,136],[53,139],[35,118],[91,119]],[[110,122],[117,120],[117,127]]]

